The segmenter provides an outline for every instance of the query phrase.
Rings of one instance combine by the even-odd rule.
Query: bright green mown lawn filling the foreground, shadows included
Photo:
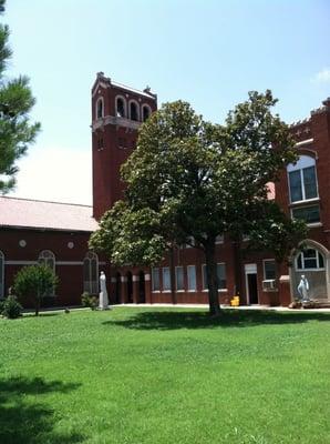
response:
[[[330,315],[0,319],[0,443],[330,443]]]

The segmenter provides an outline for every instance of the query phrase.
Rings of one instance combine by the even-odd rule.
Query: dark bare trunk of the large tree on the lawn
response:
[[[206,275],[208,286],[209,314],[218,316],[220,314],[217,263],[215,258],[215,240],[205,245]]]

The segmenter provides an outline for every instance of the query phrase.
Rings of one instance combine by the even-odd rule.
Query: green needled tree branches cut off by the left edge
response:
[[[6,0],[0,0],[0,13]],[[18,171],[16,161],[22,157],[40,130],[39,123],[30,124],[29,112],[34,104],[29,79],[20,75],[8,80],[6,69],[11,50],[8,44],[9,28],[0,23],[0,192],[14,185]]]

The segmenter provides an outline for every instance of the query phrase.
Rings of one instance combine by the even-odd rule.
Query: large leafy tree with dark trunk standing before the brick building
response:
[[[224,125],[204,121],[188,103],[164,104],[142,125],[122,168],[125,200],[104,214],[91,246],[115,264],[155,264],[194,238],[205,253],[210,313],[219,314],[217,235],[249,234],[282,260],[288,239],[296,245],[305,234],[267,198],[268,183],[297,160],[275,103],[270,91],[250,92]]]

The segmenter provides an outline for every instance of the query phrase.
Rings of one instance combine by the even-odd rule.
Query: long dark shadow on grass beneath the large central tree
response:
[[[308,321],[328,321],[330,313],[280,313],[274,311],[225,310],[219,317],[198,311],[143,311],[127,319],[105,321],[103,324],[132,330],[178,330],[246,327],[261,324],[300,324]]]

